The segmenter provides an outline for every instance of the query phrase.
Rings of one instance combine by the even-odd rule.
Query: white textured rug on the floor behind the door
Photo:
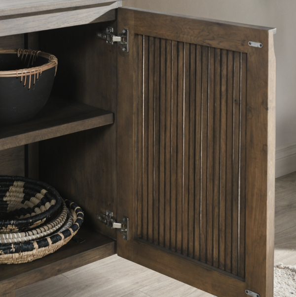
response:
[[[274,297],[296,297],[296,267],[274,266]]]

